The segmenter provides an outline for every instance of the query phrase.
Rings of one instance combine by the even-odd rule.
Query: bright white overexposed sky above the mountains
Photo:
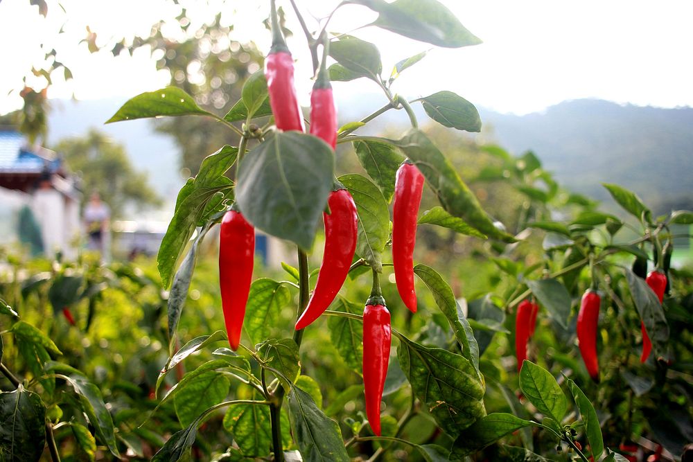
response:
[[[0,114],[21,105],[21,79],[42,86],[30,73],[40,64],[45,42],[58,49],[60,60],[73,71],[64,82],[53,75],[49,98],[123,98],[164,87],[166,71],[157,71],[147,49],[134,56],[113,57],[109,51],[91,54],[78,42],[87,25],[98,40],[133,33],[146,35],[160,17],[175,16],[164,0],[47,0],[49,15],[37,15],[26,0],[1,0]],[[182,0],[191,8],[202,2]],[[200,20],[218,10],[234,24],[234,39],[253,39],[263,50],[270,35],[260,24],[267,17],[265,1],[210,0]],[[288,0],[277,0],[290,10]],[[299,0],[310,28],[314,17],[325,17],[336,1]],[[464,48],[435,48],[407,69],[394,91],[414,99],[440,90],[455,93],[477,106],[498,112],[541,112],[563,100],[602,98],[616,103],[657,107],[693,106],[693,2],[683,0],[441,0],[462,24],[484,43]],[[67,11],[67,14],[65,13]],[[394,63],[432,46],[414,42],[374,27],[361,28],[376,15],[365,7],[341,8],[329,30],[348,32],[374,42],[383,57],[384,73]],[[308,104],[310,60],[305,39],[289,12],[288,26],[295,31],[289,46],[297,59],[297,89]],[[57,35],[63,27],[64,33]],[[57,37],[57,38],[56,38]],[[373,82],[337,85],[335,91],[374,92]]]

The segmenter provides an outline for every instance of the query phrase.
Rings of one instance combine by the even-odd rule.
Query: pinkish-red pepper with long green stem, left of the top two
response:
[[[265,78],[267,93],[270,95],[270,107],[274,115],[274,125],[277,125],[279,130],[303,132],[303,114],[301,114],[294,87],[294,60],[281,35],[274,0],[271,5],[272,48],[265,60]]]

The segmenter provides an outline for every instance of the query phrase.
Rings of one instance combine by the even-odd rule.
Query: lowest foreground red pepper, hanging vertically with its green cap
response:
[[[390,315],[382,296],[371,296],[363,310],[363,384],[366,416],[380,436],[380,400],[383,399],[392,332]]]

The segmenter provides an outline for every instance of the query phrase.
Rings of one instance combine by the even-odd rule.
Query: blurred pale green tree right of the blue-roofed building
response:
[[[125,148],[102,132],[90,130],[84,137],[64,139],[54,149],[82,177],[85,194],[98,192],[113,217],[122,216],[126,204],[143,208],[161,203],[148,185],[146,173],[134,170]]]

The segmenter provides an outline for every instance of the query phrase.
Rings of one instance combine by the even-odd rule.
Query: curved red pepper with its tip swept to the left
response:
[[[312,128],[312,126],[311,126]],[[325,220],[325,251],[317,274],[317,283],[306,310],[296,323],[302,329],[315,321],[332,303],[349,274],[356,251],[358,217],[356,204],[346,189],[333,191],[328,198],[330,214]]]

